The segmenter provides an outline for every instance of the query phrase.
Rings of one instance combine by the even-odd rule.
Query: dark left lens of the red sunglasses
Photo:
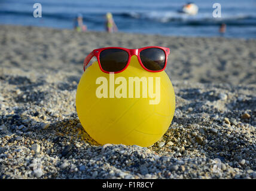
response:
[[[106,49],[100,52],[100,66],[106,72],[119,72],[126,67],[129,54],[121,49]]]

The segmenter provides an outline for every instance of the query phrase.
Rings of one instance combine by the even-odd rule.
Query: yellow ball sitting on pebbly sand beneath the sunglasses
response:
[[[175,93],[164,71],[148,72],[132,56],[126,70],[114,77],[102,72],[97,61],[89,66],[77,87],[76,106],[84,130],[98,143],[148,147],[168,130]]]

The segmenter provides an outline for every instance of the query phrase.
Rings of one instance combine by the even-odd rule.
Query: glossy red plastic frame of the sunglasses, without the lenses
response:
[[[164,54],[165,54],[165,63],[164,63],[164,67],[163,69],[161,70],[149,70],[147,69],[147,67],[144,66],[144,64],[142,63],[141,61],[141,57],[140,57],[140,53],[142,50],[145,50],[147,48],[159,48],[161,50],[164,51]],[[107,72],[105,70],[102,69],[102,66],[100,64],[100,60],[99,60],[99,55],[101,53],[101,51],[103,50],[108,50],[108,49],[120,49],[120,50],[124,50],[126,51],[128,54],[129,54],[129,58],[128,58],[128,61],[127,61],[127,64],[126,64],[126,67],[124,67],[124,69],[120,70],[120,71],[117,71],[117,72]],[[90,62],[90,60],[92,59],[92,57],[96,57],[97,58],[97,63],[99,63],[99,67],[100,67],[100,70],[102,70],[102,72],[105,72],[105,73],[119,73],[119,72],[123,72],[123,70],[125,70],[129,64],[130,64],[130,58],[135,55],[138,57],[138,60],[139,60],[139,64],[141,64],[141,66],[147,70],[148,72],[161,72],[163,71],[165,68],[166,68],[166,64],[167,64],[167,57],[169,56],[170,54],[170,48],[165,48],[165,47],[157,47],[157,46],[151,46],[151,47],[144,47],[144,48],[138,48],[138,49],[128,49],[128,48],[121,48],[121,47],[106,47],[106,48],[97,48],[95,50],[92,51],[92,53],[90,53],[85,59],[84,59],[84,71],[86,71],[86,66],[87,64]]]

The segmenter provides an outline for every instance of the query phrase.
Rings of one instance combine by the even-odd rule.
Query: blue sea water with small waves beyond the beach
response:
[[[33,4],[42,5],[42,18],[34,18]],[[83,14],[89,30],[105,30],[105,14],[111,12],[120,32],[178,36],[218,36],[220,23],[225,36],[256,38],[255,0],[195,0],[196,16],[177,12],[182,0],[0,0],[0,24],[19,24],[72,29],[73,19]],[[221,4],[221,18],[212,16],[212,5]]]

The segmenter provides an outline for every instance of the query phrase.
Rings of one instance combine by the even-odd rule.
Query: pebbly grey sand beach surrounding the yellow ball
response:
[[[151,147],[99,145],[75,110],[84,58],[150,45],[171,52],[169,130]],[[255,71],[255,39],[1,25],[0,178],[256,178]]]

